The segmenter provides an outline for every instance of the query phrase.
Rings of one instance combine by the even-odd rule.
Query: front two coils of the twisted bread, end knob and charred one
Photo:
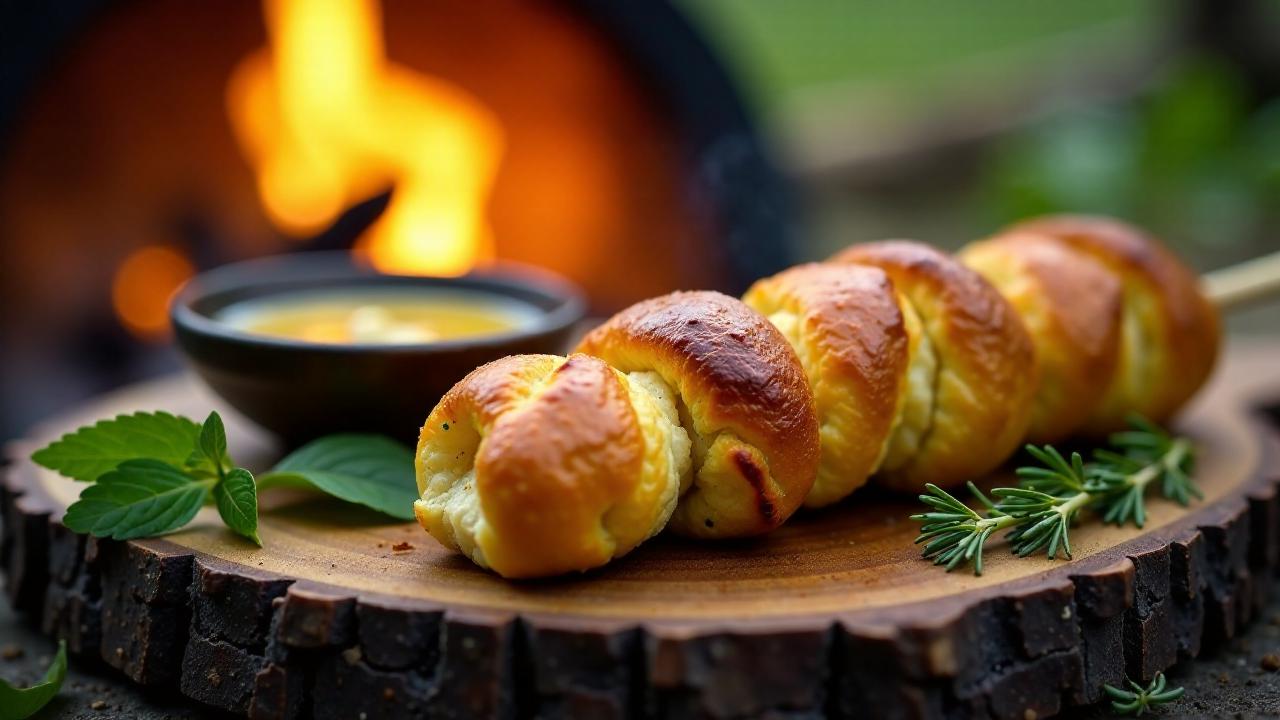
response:
[[[763,316],[716,292],[641,302],[589,355],[517,355],[440,400],[417,446],[419,521],[508,578],[585,570],[668,523],[741,537],[813,486],[804,373]],[[677,497],[680,498],[677,506]]]

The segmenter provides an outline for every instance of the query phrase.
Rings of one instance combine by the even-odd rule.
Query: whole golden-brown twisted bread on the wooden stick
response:
[[[422,428],[419,521],[506,577],[603,565],[668,519],[758,534],[868,477],[954,486],[1028,436],[1166,419],[1208,377],[1220,329],[1189,270],[1100,218],[1023,223],[960,260],[859,245],[744,300],[648,300],[582,355],[467,375]]]

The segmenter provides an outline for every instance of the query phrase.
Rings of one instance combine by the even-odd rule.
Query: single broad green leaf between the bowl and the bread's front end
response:
[[[310,442],[261,475],[259,487],[310,486],[401,520],[413,519],[413,454],[384,436],[338,434]]]

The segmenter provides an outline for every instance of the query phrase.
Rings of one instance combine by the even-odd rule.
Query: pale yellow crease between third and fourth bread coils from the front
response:
[[[878,462],[879,470],[896,470],[919,452],[933,425],[933,401],[937,393],[938,356],[933,341],[920,322],[915,305],[904,293],[897,293],[897,306],[906,327],[908,366],[906,387],[899,395],[893,429]]]

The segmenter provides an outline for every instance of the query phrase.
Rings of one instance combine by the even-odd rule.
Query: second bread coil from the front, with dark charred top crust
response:
[[[782,524],[818,469],[818,420],[791,346],[759,313],[718,292],[637,302],[579,346],[623,373],[652,370],[680,397],[694,479],[671,528],[742,537]]]

